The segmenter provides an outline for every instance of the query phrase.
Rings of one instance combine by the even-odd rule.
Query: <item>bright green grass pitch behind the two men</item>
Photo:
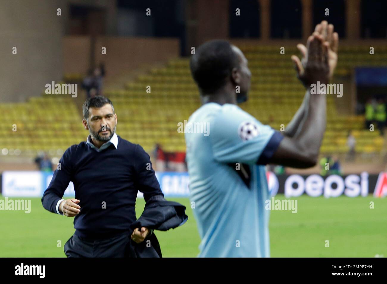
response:
[[[195,209],[191,209],[188,198],[167,199],[185,205],[189,219],[174,230],[156,231],[163,257],[197,256],[200,238],[192,214]],[[297,199],[296,214],[271,211],[271,257],[387,256],[387,199],[305,195]],[[144,204],[144,199],[137,200],[137,217]],[[46,211],[40,198],[31,199],[29,214],[0,211],[0,257],[65,257],[63,246],[74,233],[73,220]],[[59,240],[61,247],[57,245]],[[329,240],[329,247],[325,247],[325,240]]]

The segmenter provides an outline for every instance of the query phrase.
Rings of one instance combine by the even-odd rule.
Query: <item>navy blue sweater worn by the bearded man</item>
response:
[[[99,152],[86,142],[72,145],[60,163],[62,168],[55,170],[42,204],[48,211],[57,213],[58,201],[72,181],[75,198],[80,200],[80,213],[74,218],[78,236],[106,238],[129,231],[130,224],[136,221],[138,190],[144,193],[145,201],[163,194],[149,155],[140,145],[120,136],[117,148],[110,144]]]

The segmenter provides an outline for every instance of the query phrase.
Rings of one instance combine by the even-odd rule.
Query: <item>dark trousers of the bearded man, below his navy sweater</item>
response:
[[[67,257],[129,257],[129,232],[102,240],[72,235],[63,250]]]

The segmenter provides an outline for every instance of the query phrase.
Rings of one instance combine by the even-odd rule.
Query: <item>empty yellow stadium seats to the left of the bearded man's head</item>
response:
[[[5,121],[0,125],[3,155],[31,156],[48,151],[62,156],[70,145],[84,140],[85,131],[71,97],[43,95],[26,103],[0,104]]]

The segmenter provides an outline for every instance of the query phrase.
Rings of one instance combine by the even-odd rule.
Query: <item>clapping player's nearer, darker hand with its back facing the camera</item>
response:
[[[328,48],[329,43],[324,41],[323,36],[318,32],[314,32],[312,36],[308,37],[302,63],[297,56],[292,56],[292,60],[295,63],[297,70],[297,77],[305,87],[308,88],[318,81],[320,83],[328,83]]]

